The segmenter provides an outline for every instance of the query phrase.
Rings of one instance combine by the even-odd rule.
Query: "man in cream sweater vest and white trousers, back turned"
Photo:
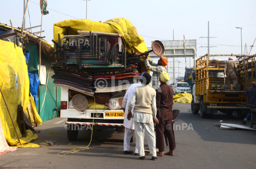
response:
[[[148,73],[144,73],[143,84],[134,88],[131,100],[128,104],[127,119],[130,120],[133,118],[134,121],[136,144],[140,160],[145,160],[143,131],[146,135],[152,160],[157,159],[154,123],[157,123],[158,120],[156,118],[155,89],[148,85],[150,81],[151,76]],[[133,109],[134,114],[132,115],[131,110],[135,102],[136,105]]]

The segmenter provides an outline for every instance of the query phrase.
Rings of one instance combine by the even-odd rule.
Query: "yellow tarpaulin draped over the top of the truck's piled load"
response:
[[[114,18],[104,23],[91,21],[89,19],[64,20],[54,24],[54,40],[58,41],[58,34],[60,34],[61,38],[65,35],[78,35],[78,30],[118,33],[124,40],[127,52],[131,53],[133,50],[133,52],[143,53],[147,51],[143,37],[138,35],[136,27],[125,18]],[[62,41],[64,40],[65,39]],[[142,64],[141,71],[146,71],[144,64]]]

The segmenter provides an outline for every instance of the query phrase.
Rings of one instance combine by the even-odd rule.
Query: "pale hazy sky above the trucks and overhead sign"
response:
[[[40,0],[29,0],[26,27],[41,24]],[[1,2],[0,22],[21,27],[24,1],[5,0]],[[210,21],[210,54],[240,54],[242,27],[243,53],[245,44],[249,52],[256,39],[256,0],[88,0],[87,19],[105,22],[111,18],[126,18],[137,28],[138,34],[144,37],[147,47],[154,40],[197,40],[197,58],[208,53],[208,21]],[[86,0],[48,0],[48,15],[43,16],[42,29],[46,40],[53,39],[53,25],[69,19],[86,18]],[[29,11],[29,15],[28,15]],[[29,21],[30,20],[30,21]],[[33,28],[40,31],[40,27]],[[256,53],[256,47],[251,54]],[[185,59],[178,59],[180,76],[184,76]],[[215,57],[227,60],[226,57]],[[173,67],[173,59],[168,61]],[[157,62],[157,59],[155,59]],[[193,61],[191,59],[191,65]],[[176,77],[178,64],[176,63]],[[189,67],[189,59],[187,59]],[[172,68],[168,71],[171,72]]]

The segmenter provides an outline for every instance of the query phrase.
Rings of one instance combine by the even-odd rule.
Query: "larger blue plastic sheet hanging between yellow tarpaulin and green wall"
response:
[[[33,96],[35,103],[37,105],[37,90],[39,86],[39,78],[37,72],[28,71],[28,78],[29,78],[29,91]]]

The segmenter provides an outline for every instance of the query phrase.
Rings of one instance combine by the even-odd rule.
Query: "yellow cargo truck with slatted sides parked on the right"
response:
[[[213,56],[216,60],[209,60]],[[220,61],[221,59],[223,60],[223,56],[232,56],[234,61],[236,57],[238,58],[238,61],[236,61],[238,65],[238,89],[236,90],[229,90],[224,87],[223,73],[227,61]],[[254,63],[255,55],[206,54],[197,59],[192,90],[192,113],[198,114],[200,110],[201,118],[212,118],[217,111],[229,116],[234,112],[238,116],[247,114],[247,109],[241,109],[246,107],[236,105],[240,102],[247,103],[247,97],[244,96],[244,92],[246,88],[251,88],[249,84],[255,81],[256,67]],[[227,79],[225,85],[227,85]]]

